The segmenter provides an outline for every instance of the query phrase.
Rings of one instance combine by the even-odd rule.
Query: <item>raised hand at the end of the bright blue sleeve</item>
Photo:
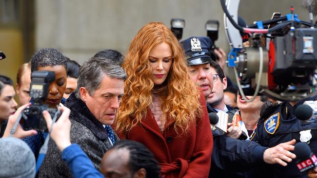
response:
[[[62,114],[57,122],[53,124],[50,136],[56,142],[59,150],[63,151],[66,147],[72,144],[70,142],[70,120],[68,118],[70,114],[70,109],[67,107],[59,107],[59,110],[62,112]],[[48,130],[51,130],[52,118],[49,112],[44,110],[43,116],[46,121]]]

